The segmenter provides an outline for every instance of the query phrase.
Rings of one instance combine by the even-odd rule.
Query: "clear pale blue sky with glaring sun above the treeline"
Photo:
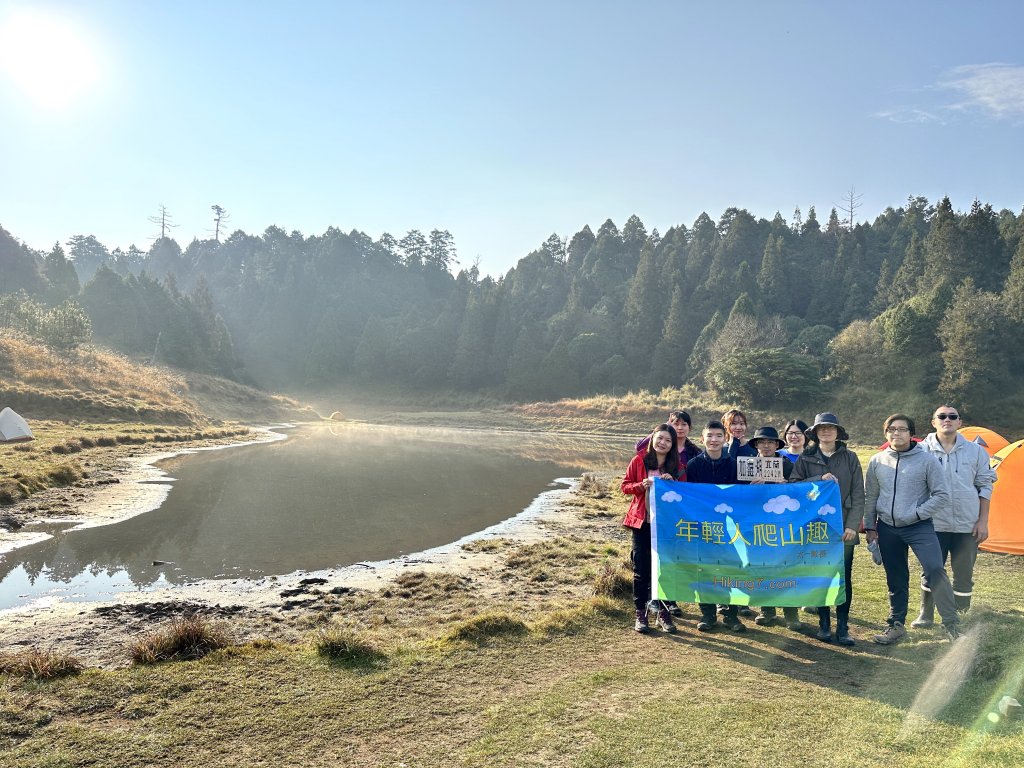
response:
[[[0,226],[147,250],[1024,207],[1024,3],[0,0]]]

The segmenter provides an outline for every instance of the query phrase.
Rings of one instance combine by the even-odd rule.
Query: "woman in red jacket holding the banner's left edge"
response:
[[[623,525],[633,534],[633,604],[636,607],[636,623],[633,629],[644,633],[647,625],[647,603],[650,600],[650,519],[647,517],[647,493],[654,484],[654,478],[679,480],[686,474],[686,466],[680,465],[676,443],[676,430],[668,424],[659,424],[651,433],[647,450],[637,454],[630,462],[623,478],[623,493],[632,496],[630,509]],[[675,632],[669,609],[659,601],[657,626],[666,632]]]

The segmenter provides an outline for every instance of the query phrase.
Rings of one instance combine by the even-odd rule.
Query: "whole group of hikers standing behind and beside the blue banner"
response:
[[[622,482],[632,497],[623,525],[633,538],[634,629],[649,631],[648,612],[656,612],[656,624],[665,632],[675,632],[673,616],[682,615],[679,606],[651,595],[651,526],[647,497],[654,479],[709,482],[719,485],[737,482],[736,459],[743,456],[781,457],[784,482],[831,481],[839,484],[843,500],[844,570],[846,601],[836,606],[833,632],[830,606],[810,606],[817,613],[815,636],[823,642],[854,645],[849,616],[853,601],[853,555],[863,532],[876,562],[885,568],[889,588],[889,615],[886,628],[876,635],[876,643],[891,645],[907,636],[905,624],[909,602],[909,550],[921,563],[921,611],[912,628],[932,627],[935,611],[950,639],[959,636],[959,617],[971,607],[974,566],[978,545],[988,537],[988,507],[995,481],[988,454],[958,430],[962,417],[952,406],[941,406],[932,415],[932,427],[918,440],[913,419],[893,414],[883,425],[886,443],[871,457],[866,472],[860,460],[847,447],[849,435],[833,413],[821,413],[808,426],[793,419],[782,427],[782,436],[772,426],[759,427],[746,439],[746,416],[736,409],[721,421],[709,421],[701,430],[703,447],[689,437],[692,427],[686,411],[673,411],[665,423],[636,443]],[[753,482],[761,482],[756,479]],[[953,579],[946,574],[950,562]],[[776,608],[700,603],[696,629],[711,632],[722,624],[733,632],[745,631],[740,616],[753,616],[755,624],[768,626],[777,621]],[[783,621],[800,631],[803,623],[794,606],[782,608]]]

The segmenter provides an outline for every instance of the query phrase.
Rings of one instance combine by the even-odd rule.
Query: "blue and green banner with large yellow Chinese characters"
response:
[[[777,607],[846,601],[838,482],[654,480],[647,508],[654,599]]]

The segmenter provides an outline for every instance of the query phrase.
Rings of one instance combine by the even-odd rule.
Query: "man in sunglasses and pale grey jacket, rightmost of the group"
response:
[[[932,415],[931,432],[921,446],[939,460],[949,485],[949,504],[932,516],[942,551],[953,570],[953,599],[962,613],[971,607],[974,591],[974,563],[978,545],[988,538],[988,504],[992,498],[995,470],[988,453],[977,442],[968,440],[957,431],[962,425],[959,411],[952,406],[940,406]],[[935,623],[935,601],[928,580],[922,577],[921,613],[911,627],[931,627]]]

